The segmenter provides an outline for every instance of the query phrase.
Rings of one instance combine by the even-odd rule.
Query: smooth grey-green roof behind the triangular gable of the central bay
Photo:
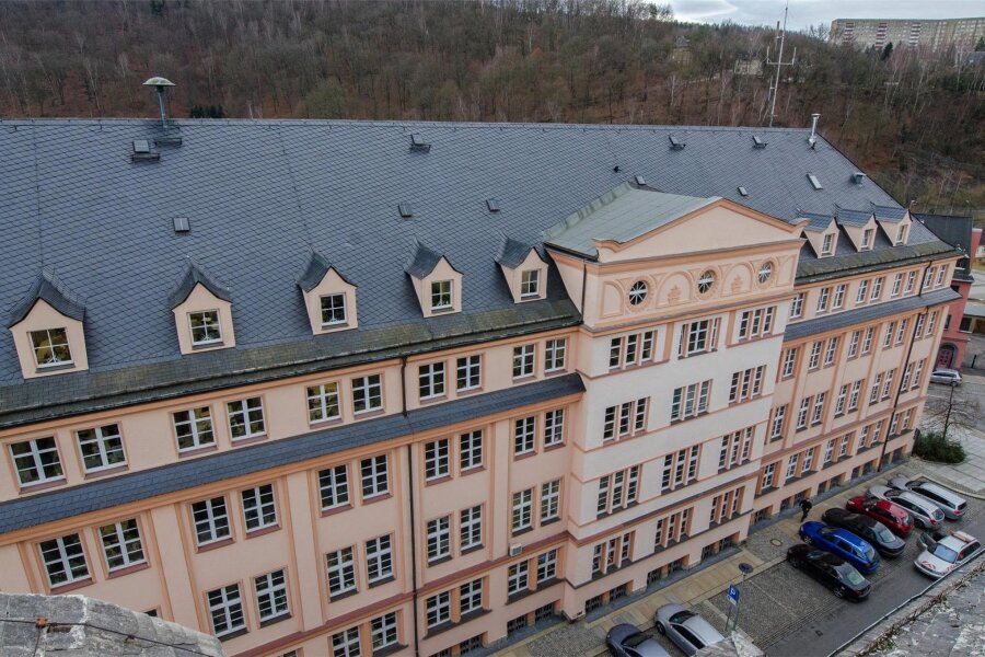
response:
[[[565,251],[598,257],[596,240],[624,244],[718,198],[664,194],[646,186],[623,183],[548,228],[544,242]]]

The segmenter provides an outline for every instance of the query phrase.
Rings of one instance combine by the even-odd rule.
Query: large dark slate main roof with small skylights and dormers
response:
[[[85,298],[90,365],[89,373],[25,383],[12,339],[0,337],[0,416],[129,394],[118,380],[143,391],[159,376],[174,385],[193,370],[205,385],[255,381],[264,368],[285,376],[293,362],[321,359],[325,368],[354,350],[370,358],[374,336],[390,349],[403,333],[425,342],[491,333],[498,316],[513,331],[575,322],[553,266],[547,299],[514,310],[495,262],[500,233],[540,244],[545,230],[636,175],[667,194],[720,196],[791,222],[797,208],[833,216],[835,204],[895,207],[871,181],[856,185],[858,168],[823,138],[809,148],[809,129],[195,119],[179,131],[181,146],[157,141],[160,160],[134,162],[132,140],[161,137],[160,122],[0,120],[0,312],[12,312],[43,267],[54,267]],[[412,152],[410,132],[430,150]],[[687,148],[668,148],[671,134]],[[769,148],[753,148],[753,135]],[[832,182],[814,191],[808,171]],[[488,211],[490,197],[501,211]],[[398,216],[398,203],[413,204],[412,219]],[[174,217],[188,217],[194,230],[176,233]],[[404,273],[415,240],[462,272],[457,316],[421,318]],[[914,223],[911,246],[925,243],[940,244]],[[294,286],[312,251],[359,286],[358,330],[311,335]],[[854,251],[838,242],[839,255]],[[864,255],[883,251],[883,264],[913,255],[881,235]],[[229,290],[235,348],[181,356],[169,308],[189,260]],[[839,260],[816,261],[804,249],[800,262],[809,270]]]

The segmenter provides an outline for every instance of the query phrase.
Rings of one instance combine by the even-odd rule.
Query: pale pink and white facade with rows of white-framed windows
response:
[[[642,590],[911,449],[945,303],[856,311],[947,289],[957,255],[799,280],[803,227],[719,199],[598,241],[595,258],[548,245],[578,325],[3,429],[0,499],[18,500],[367,427],[315,457],[0,534],[0,589],[83,592],[217,633],[230,655],[305,657],[465,654]],[[540,257],[519,268],[546,275]],[[455,283],[455,311],[468,281],[445,261],[433,276]],[[429,284],[415,280],[425,316]],[[202,288],[187,302],[235,313]],[[536,392],[552,382],[560,393]],[[88,430],[114,425],[125,459],[88,469]],[[54,445],[61,474],[21,484],[12,446],[27,443]]]

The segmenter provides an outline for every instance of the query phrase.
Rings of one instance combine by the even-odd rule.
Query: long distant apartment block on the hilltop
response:
[[[923,20],[837,19],[831,23],[828,39],[835,44],[853,44],[857,48],[922,48],[930,51],[954,46],[959,51],[973,50],[985,35],[985,18]]]

